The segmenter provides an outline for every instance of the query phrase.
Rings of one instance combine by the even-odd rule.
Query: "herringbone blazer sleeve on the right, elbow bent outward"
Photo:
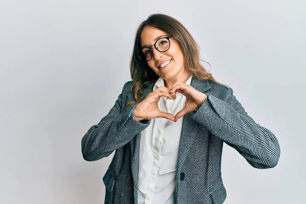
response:
[[[227,88],[227,87],[226,87]],[[207,94],[192,118],[208,131],[235,148],[254,168],[276,166],[281,154],[278,141],[271,131],[257,124],[227,88],[224,99]]]

